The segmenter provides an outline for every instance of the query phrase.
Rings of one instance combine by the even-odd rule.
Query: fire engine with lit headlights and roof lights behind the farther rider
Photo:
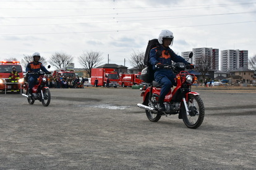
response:
[[[9,76],[12,72],[12,67],[16,67],[16,71],[19,73],[20,79],[17,82],[11,82]],[[19,90],[22,92],[24,78],[23,71],[20,62],[17,61],[0,61],[0,91],[11,91],[14,84],[19,85]]]

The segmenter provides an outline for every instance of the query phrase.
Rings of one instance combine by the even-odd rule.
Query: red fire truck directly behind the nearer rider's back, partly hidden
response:
[[[139,73],[139,74],[122,74],[119,78],[118,84],[122,87],[127,87],[127,86],[132,87],[132,85],[143,84],[142,79],[140,79],[140,75],[141,75],[141,73]]]

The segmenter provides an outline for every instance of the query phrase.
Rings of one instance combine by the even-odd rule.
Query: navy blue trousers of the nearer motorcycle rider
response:
[[[176,85],[174,78],[175,75],[171,70],[159,69],[155,71],[155,81],[161,84],[160,98],[164,99],[164,96],[168,94],[171,87]]]

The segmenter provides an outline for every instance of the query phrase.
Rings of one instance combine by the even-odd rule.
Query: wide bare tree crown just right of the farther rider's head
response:
[[[66,67],[69,63],[74,60],[72,55],[68,55],[61,52],[55,52],[55,54],[51,55],[48,62],[53,65],[53,67],[59,69]]]

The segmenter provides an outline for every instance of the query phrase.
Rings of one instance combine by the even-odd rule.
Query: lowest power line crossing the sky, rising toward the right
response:
[[[230,22],[230,23],[213,23],[213,24],[205,24],[205,25],[187,25],[187,26],[173,26],[168,28],[140,28],[140,29],[130,29],[130,30],[105,30],[105,31],[81,31],[81,32],[62,32],[62,33],[14,33],[14,34],[0,34],[1,36],[13,36],[13,35],[40,35],[40,34],[81,34],[81,33],[109,33],[109,32],[121,32],[121,31],[143,31],[143,30],[163,30],[170,28],[190,28],[197,26],[213,26],[213,25],[229,25],[229,24],[239,24],[239,23],[252,23],[254,21],[246,21],[246,22]]]

